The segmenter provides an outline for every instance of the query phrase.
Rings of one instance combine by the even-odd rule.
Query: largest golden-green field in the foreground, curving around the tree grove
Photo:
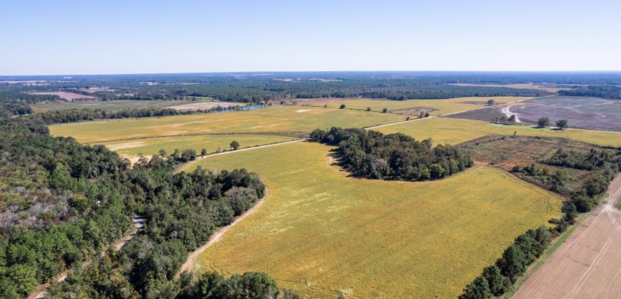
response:
[[[356,179],[318,143],[201,159],[258,172],[271,194],[198,258],[198,271],[265,271],[306,297],[455,298],[560,199],[497,169],[435,182]],[[398,275],[395,276],[395,273]]]

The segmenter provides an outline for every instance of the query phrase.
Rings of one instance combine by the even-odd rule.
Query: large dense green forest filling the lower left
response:
[[[202,278],[174,278],[187,253],[264,195],[258,175],[244,169],[176,172],[196,154],[163,151],[130,167],[104,146],[51,137],[34,117],[0,118],[0,153],[0,298],[25,297],[69,268],[52,297],[200,293]],[[141,233],[120,251],[109,249],[135,215],[146,221]],[[277,294],[270,279],[249,273],[211,287]]]

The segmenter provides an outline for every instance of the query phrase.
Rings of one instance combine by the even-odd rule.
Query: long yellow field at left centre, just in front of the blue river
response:
[[[56,136],[79,142],[105,142],[119,136],[155,137],[220,132],[310,132],[315,128],[364,127],[405,120],[403,115],[323,107],[276,106],[215,114],[179,115],[50,126]]]

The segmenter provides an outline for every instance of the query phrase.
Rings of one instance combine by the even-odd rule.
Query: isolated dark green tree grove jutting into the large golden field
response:
[[[340,163],[359,177],[424,181],[443,179],[472,166],[469,155],[458,147],[419,142],[401,133],[383,135],[363,129],[316,129],[310,139],[338,145]]]

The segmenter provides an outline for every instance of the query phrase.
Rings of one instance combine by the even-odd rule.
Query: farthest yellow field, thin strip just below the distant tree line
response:
[[[509,103],[529,98],[524,97],[490,97],[490,98],[453,98],[445,100],[373,100],[373,99],[312,99],[297,100],[298,105],[313,105],[323,107],[328,105],[330,108],[338,108],[341,104],[345,104],[348,109],[365,110],[367,107],[371,111],[382,111],[383,108],[388,111],[403,110],[412,107],[433,108],[434,111],[430,115],[443,115],[446,113],[458,112],[477,107],[485,107],[487,100],[494,99],[496,103]],[[416,113],[418,115],[418,113]]]

